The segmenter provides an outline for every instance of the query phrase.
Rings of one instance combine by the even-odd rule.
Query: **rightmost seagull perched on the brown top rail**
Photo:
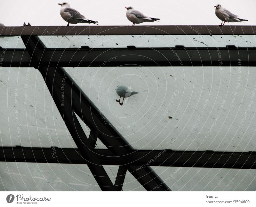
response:
[[[221,25],[223,26],[225,22],[242,22],[242,21],[248,21],[246,19],[240,19],[237,18],[238,16],[235,14],[232,14],[230,11],[227,9],[223,8],[220,6],[220,4],[217,4],[215,7],[215,14],[216,16],[221,20]],[[222,22],[224,21],[224,24],[222,25]]]

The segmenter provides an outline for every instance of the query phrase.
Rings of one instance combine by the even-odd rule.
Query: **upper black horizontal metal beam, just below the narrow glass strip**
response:
[[[0,49],[2,53],[4,49]],[[256,48],[57,48],[45,49],[41,67],[256,66]],[[116,58],[115,58],[116,57]],[[111,59],[111,61],[108,61]],[[106,63],[107,62],[107,63]],[[103,64],[104,63],[104,64]],[[27,50],[7,49],[2,67],[36,64]]]

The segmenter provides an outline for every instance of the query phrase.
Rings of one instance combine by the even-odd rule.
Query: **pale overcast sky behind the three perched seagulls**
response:
[[[0,22],[6,26],[22,26],[23,22],[29,22],[32,26],[67,25],[60,17],[60,5],[57,4],[64,0],[1,1]],[[218,3],[240,18],[249,20],[245,24],[226,25],[256,25],[256,0],[68,0],[67,2],[86,18],[99,21],[99,25],[132,25],[125,16],[125,6],[133,6],[150,17],[161,19],[160,22],[145,22],[140,25],[219,25],[221,21],[215,16],[215,8],[213,8]]]

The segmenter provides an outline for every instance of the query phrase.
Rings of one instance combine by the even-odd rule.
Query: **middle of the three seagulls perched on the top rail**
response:
[[[124,7],[124,8],[127,9],[126,17],[133,23],[132,26],[134,26],[135,23],[140,24],[142,22],[153,22],[153,21],[160,20],[157,18],[148,17],[142,14],[140,11],[134,10],[132,6]]]

